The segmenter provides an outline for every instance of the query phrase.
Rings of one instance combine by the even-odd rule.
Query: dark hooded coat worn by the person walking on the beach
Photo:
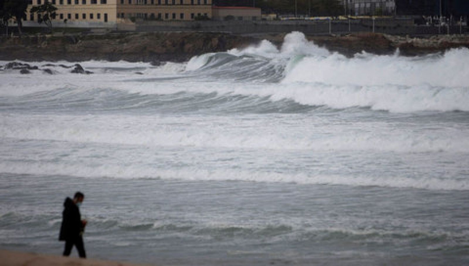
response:
[[[83,231],[80,209],[71,198],[66,198],[63,203],[65,209],[62,213],[62,225],[59,240],[66,241],[76,239]]]

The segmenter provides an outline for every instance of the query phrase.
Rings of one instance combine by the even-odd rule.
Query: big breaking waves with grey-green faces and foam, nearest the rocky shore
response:
[[[183,112],[209,105],[211,111],[253,113],[304,112],[318,106],[397,113],[469,111],[468,48],[417,57],[359,53],[347,58],[293,32],[280,47],[264,40],[245,49],[195,56],[183,64],[81,64],[94,74],[70,74],[58,66],[50,67],[55,74],[47,76],[0,71],[5,77],[0,84],[2,105],[21,109],[29,99],[38,99],[41,108],[66,101],[70,105],[62,105],[65,109],[83,104],[91,111],[109,110],[116,103],[155,110],[173,103],[166,107]]]

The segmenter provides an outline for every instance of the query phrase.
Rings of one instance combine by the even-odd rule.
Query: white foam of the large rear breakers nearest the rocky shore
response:
[[[33,71],[31,75],[2,71],[0,96],[22,96],[63,88],[76,91],[114,89],[139,94],[218,92],[271,97],[272,100],[293,99],[305,105],[333,108],[363,106],[391,112],[469,111],[467,48],[453,49],[439,56],[402,57],[397,54],[378,56],[362,53],[346,58],[329,53],[307,41],[302,33],[294,32],[287,34],[280,49],[263,41],[257,46],[234,49],[228,53],[233,57],[230,60],[239,59],[241,63],[226,63],[227,58],[221,57],[220,60],[225,60],[227,64],[225,67],[216,65],[216,69],[207,69],[210,67],[207,65],[209,61],[217,60],[213,58],[216,53],[207,53],[193,57],[187,65],[167,63],[160,67],[151,67],[148,63],[82,62],[85,69],[92,68],[96,72],[93,75],[70,74],[69,69],[61,67],[53,68],[57,75],[45,75],[40,71]],[[278,70],[272,75],[284,76],[280,84],[265,83],[264,80],[269,78],[262,76],[262,73],[257,75],[257,82],[252,80],[256,77],[256,69],[248,73],[252,82],[242,82],[246,79],[242,76],[246,75],[242,63],[250,60],[247,55],[262,57],[261,61],[270,58],[272,67],[269,68]],[[67,64],[55,64],[59,63]],[[133,68],[143,68],[138,72],[144,75],[136,75],[137,70]],[[257,70],[266,71],[264,68]],[[197,79],[194,71],[205,79]],[[207,74],[210,74],[209,83],[206,82]],[[236,76],[241,82],[217,79],[217,76],[227,77],[228,74],[241,75]],[[193,78],[184,82],[172,79],[187,75]],[[166,80],[152,79],[158,77]]]

